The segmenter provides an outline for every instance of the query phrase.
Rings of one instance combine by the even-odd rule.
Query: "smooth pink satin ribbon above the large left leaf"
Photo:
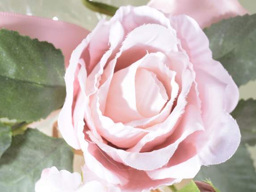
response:
[[[0,28],[15,30],[30,38],[54,44],[63,52],[66,67],[72,51],[90,33],[82,27],[63,21],[5,12],[0,12]]]

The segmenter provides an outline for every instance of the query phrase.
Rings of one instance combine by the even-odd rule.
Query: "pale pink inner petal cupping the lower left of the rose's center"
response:
[[[107,80],[100,86],[97,93],[91,99],[90,110],[92,113],[92,118],[94,119],[94,127],[97,128],[98,132],[110,141],[112,144],[119,146],[121,148],[129,148],[137,143],[145,135],[147,131],[140,128],[133,128],[131,126],[125,126],[122,123],[115,124],[112,119],[107,116],[102,115],[103,107],[106,103],[108,86],[111,82],[111,76],[114,72],[116,59],[112,60],[107,68],[104,70],[109,73],[110,76]],[[82,81],[83,82],[83,81]],[[97,96],[98,95],[98,96]],[[98,104],[99,102],[99,104]],[[102,107],[103,105],[103,107]],[[101,108],[102,107],[102,108]],[[91,121],[89,118],[87,121]]]

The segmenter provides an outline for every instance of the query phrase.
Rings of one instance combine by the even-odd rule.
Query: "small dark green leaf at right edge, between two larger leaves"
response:
[[[231,115],[239,124],[242,142],[256,145],[256,100],[240,100]]]

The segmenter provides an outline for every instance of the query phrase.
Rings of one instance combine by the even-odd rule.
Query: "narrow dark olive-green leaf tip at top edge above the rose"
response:
[[[85,7],[91,9],[92,11],[96,11],[98,13],[106,14],[109,16],[115,15],[115,12],[118,8],[104,4],[104,3],[99,3],[99,2],[94,2],[92,0],[82,0],[83,4]]]

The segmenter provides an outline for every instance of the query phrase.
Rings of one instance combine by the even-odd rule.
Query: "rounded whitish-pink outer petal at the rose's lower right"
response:
[[[201,134],[198,140],[201,141],[198,145],[202,148],[199,153],[202,164],[213,165],[225,162],[235,154],[241,134],[235,119],[223,112],[215,117],[205,134]]]

